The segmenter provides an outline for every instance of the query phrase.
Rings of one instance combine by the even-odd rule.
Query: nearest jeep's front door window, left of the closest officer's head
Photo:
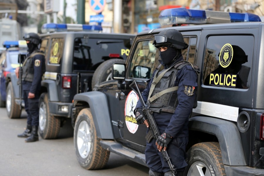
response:
[[[155,70],[154,61],[157,51],[152,45],[152,40],[138,42],[128,70],[129,77],[150,79]]]

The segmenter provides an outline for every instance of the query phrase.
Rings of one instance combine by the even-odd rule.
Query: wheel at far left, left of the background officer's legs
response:
[[[6,112],[10,119],[18,119],[21,116],[19,105],[15,102],[15,94],[12,86],[12,82],[9,82],[6,88]]]

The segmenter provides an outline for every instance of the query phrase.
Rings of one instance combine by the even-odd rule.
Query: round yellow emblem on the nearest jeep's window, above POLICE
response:
[[[230,65],[233,58],[233,47],[231,44],[226,43],[219,53],[219,63],[222,67],[226,68]]]

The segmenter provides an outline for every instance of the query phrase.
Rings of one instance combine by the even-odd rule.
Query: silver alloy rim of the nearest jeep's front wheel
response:
[[[87,158],[91,150],[91,133],[86,121],[81,121],[77,130],[77,148],[82,158]]]

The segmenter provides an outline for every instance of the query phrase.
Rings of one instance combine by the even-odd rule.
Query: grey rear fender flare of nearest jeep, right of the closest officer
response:
[[[216,136],[224,165],[246,166],[240,133],[233,122],[212,117],[195,116],[189,119],[189,130],[201,131]]]

